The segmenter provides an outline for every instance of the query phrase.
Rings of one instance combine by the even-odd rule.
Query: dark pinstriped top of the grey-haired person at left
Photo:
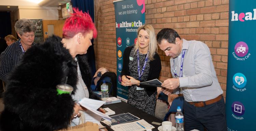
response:
[[[0,56],[0,79],[7,83],[9,73],[19,64],[20,56],[23,54],[19,40],[8,46]]]

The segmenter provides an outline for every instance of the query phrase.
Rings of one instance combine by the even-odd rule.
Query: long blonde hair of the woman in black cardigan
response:
[[[157,41],[156,41],[155,29],[150,24],[144,24],[144,25],[140,26],[137,31],[137,39],[139,37],[140,30],[145,30],[147,32],[147,34],[149,35],[150,43],[149,43],[149,48],[148,48],[148,58],[150,60],[154,60],[155,52],[157,52]],[[136,45],[135,45],[134,54],[137,53],[138,49],[139,49],[139,42],[137,40]]]

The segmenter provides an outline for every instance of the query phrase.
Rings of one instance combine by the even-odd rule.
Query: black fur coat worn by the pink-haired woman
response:
[[[77,60],[90,98],[96,97],[89,88],[91,75],[86,57],[79,55]],[[10,74],[0,130],[54,131],[68,127],[74,101],[71,95],[57,95],[56,91],[56,85],[65,83],[66,77],[75,91],[77,63],[60,37],[52,36],[28,49]]]

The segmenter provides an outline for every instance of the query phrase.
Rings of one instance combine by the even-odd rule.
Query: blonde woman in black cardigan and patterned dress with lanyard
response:
[[[129,104],[154,116],[156,87],[140,86],[140,82],[158,79],[161,71],[161,60],[157,54],[156,35],[152,25],[140,26],[137,39],[136,45],[127,47],[123,54],[122,85],[128,86]]]

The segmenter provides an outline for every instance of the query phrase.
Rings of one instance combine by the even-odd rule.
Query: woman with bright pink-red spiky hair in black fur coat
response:
[[[73,10],[63,25],[63,38],[51,36],[33,45],[10,74],[1,131],[67,128],[77,124],[79,111],[83,111],[76,103],[84,97],[94,98],[87,88],[92,78],[84,54],[97,31],[89,14]],[[73,92],[57,95],[56,86],[65,83],[74,88]]]

